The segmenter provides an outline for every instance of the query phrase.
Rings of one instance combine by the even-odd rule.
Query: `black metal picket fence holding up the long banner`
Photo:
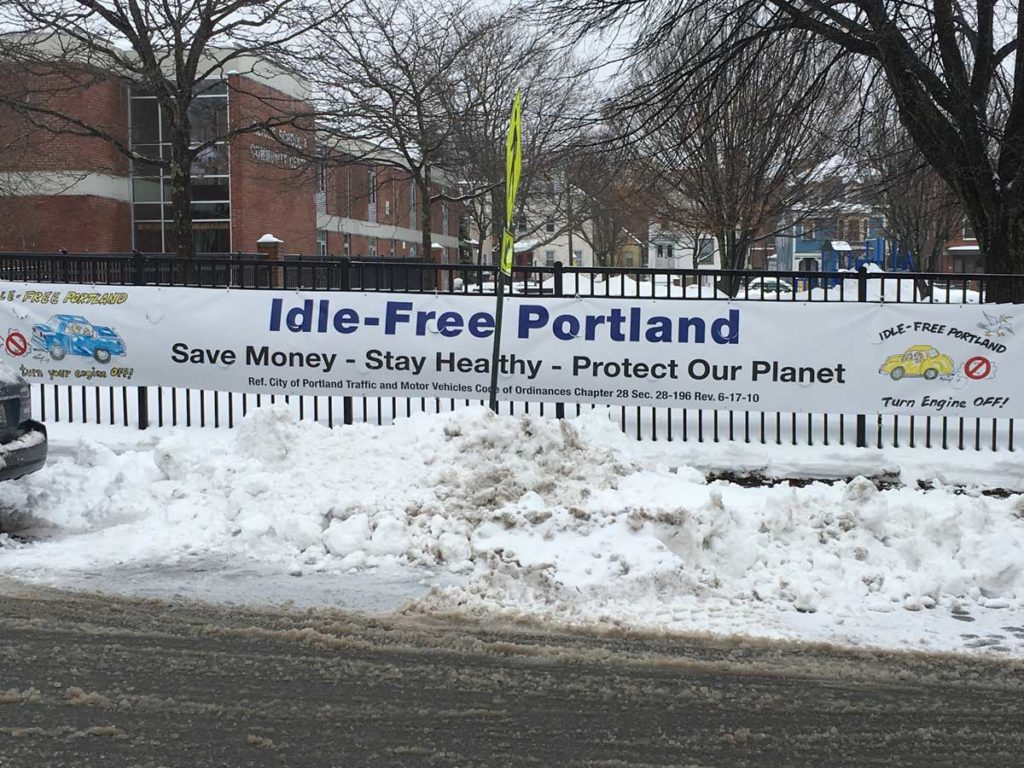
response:
[[[493,293],[489,265],[400,259],[347,259],[259,254],[0,254],[0,280],[88,285],[155,285],[319,291]],[[662,298],[679,301],[984,303],[1022,294],[1024,275],[518,267],[520,295]],[[800,329],[779,329],[799,335]],[[258,395],[170,387],[39,385],[40,417],[50,421],[124,426],[233,426],[253,408],[287,402],[300,418],[335,426],[387,424],[417,413],[439,413],[481,400],[416,397]],[[504,402],[504,413],[573,418],[593,406]],[[637,439],[741,441],[793,445],[854,444],[1013,451],[1013,419],[803,414],[719,409],[615,407],[624,432]]]

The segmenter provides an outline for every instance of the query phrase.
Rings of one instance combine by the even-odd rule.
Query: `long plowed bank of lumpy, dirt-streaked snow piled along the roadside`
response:
[[[693,627],[711,608],[1024,606],[1019,496],[880,490],[862,477],[708,484],[649,450],[601,411],[557,422],[474,408],[330,430],[270,408],[233,433],[182,432],[152,452],[83,442],[3,483],[0,527],[50,538],[0,540],[0,567],[218,553],[296,574],[402,562],[463,574],[420,609],[659,627]]]

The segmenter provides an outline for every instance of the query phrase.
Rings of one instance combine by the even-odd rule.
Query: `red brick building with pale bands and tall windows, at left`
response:
[[[296,79],[234,60],[204,83],[191,127],[201,142],[269,117],[308,112]],[[242,72],[240,72],[242,71]],[[259,73],[259,74],[257,74]],[[54,112],[99,125],[152,158],[169,157],[157,99],[121,80],[0,74]],[[32,82],[26,82],[27,77]],[[38,121],[37,121],[38,122]],[[293,152],[294,151],[294,152]],[[326,162],[303,160],[319,152]],[[361,153],[359,157],[362,157]],[[272,232],[283,251],[306,255],[421,257],[418,200],[408,173],[339,148],[316,146],[311,120],[216,141],[193,168],[193,220],[201,253],[253,252]],[[456,260],[459,212],[435,203],[433,258]],[[0,108],[0,251],[174,250],[167,172],[129,162],[112,143],[53,132]]]

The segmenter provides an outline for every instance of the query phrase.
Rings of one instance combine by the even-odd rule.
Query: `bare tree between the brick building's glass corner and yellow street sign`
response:
[[[316,100],[322,140],[353,160],[408,172],[419,200],[424,256],[432,250],[431,207],[460,201],[445,171],[456,125],[450,92],[464,56],[487,39],[488,24],[467,0],[357,0],[333,16],[301,52]],[[461,104],[465,113],[479,99]]]

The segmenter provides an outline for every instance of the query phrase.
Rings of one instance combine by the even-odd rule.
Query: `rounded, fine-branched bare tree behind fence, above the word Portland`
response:
[[[677,99],[659,84],[712,44],[701,29],[680,30],[652,51],[639,74],[651,84],[649,98],[634,120],[649,126],[641,146],[662,193],[658,215],[715,234],[722,266],[741,269],[756,241],[795,208],[819,203],[841,148],[834,137],[847,120],[849,89],[822,46],[790,33],[698,73],[688,97]]]

